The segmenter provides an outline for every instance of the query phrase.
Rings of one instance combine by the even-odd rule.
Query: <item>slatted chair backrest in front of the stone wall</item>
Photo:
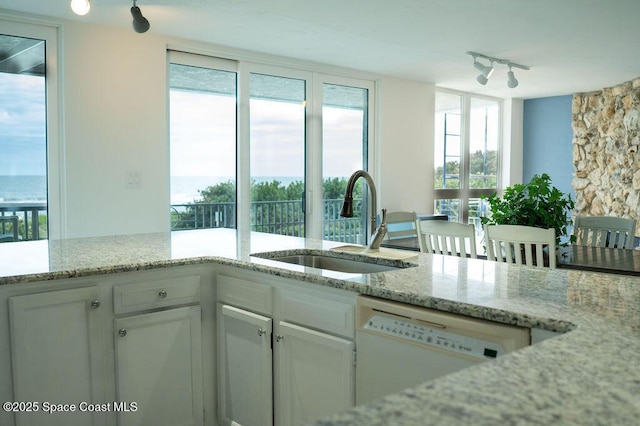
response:
[[[636,220],[611,216],[576,216],[573,235],[576,244],[590,247],[632,249]]]

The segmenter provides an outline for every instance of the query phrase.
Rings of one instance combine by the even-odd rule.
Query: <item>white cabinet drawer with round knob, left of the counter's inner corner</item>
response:
[[[200,301],[200,275],[117,284],[113,310],[124,314]]]

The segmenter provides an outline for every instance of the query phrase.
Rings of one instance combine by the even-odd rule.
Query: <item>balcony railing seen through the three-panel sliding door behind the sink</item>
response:
[[[323,201],[323,239],[363,244],[361,217],[340,217],[342,199]],[[354,200],[354,210],[360,211],[362,200]],[[301,200],[258,201],[251,203],[251,230],[271,234],[302,237],[305,235],[304,211]],[[171,229],[235,228],[235,203],[198,203],[171,205]]]

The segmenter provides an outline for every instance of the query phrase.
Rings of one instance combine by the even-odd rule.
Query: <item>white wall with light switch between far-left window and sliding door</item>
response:
[[[166,40],[67,22],[61,50],[62,236],[168,230]]]

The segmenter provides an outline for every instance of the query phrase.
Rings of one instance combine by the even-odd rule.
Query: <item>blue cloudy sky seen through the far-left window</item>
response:
[[[44,77],[0,73],[0,176],[46,175]]]

